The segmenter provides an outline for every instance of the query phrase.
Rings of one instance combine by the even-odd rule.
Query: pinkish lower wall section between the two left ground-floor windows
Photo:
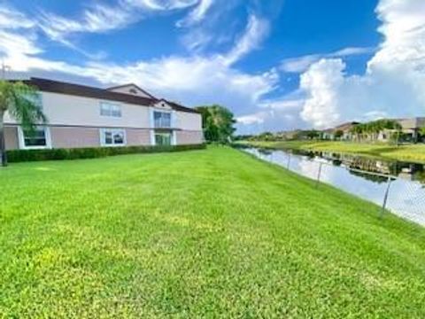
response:
[[[52,148],[99,147],[99,128],[50,127]]]

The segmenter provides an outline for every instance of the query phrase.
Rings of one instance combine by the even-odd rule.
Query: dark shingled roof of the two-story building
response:
[[[166,99],[150,98],[150,97],[136,97],[131,94],[112,92],[108,89],[99,89],[89,87],[86,85],[73,84],[67,82],[58,82],[53,80],[31,78],[30,80],[23,81],[28,85],[32,85],[35,88],[43,92],[61,93],[67,95],[73,95],[78,97],[93,97],[98,99],[105,99],[117,102],[124,102],[133,105],[151,106],[157,104],[159,101],[165,101],[175,111],[198,113],[197,110],[192,108],[179,105],[175,102],[169,102]]]

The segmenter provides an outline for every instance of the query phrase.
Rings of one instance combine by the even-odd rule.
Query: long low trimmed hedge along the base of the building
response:
[[[205,147],[205,144],[173,146],[122,146],[49,150],[12,150],[7,151],[6,153],[8,161],[11,163],[16,163],[37,160],[96,159],[106,156],[137,153],[181,152],[190,150],[203,150]]]

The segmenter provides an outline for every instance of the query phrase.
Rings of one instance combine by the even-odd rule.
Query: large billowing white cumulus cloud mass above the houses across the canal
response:
[[[366,74],[347,76],[341,59],[323,59],[302,75],[302,115],[314,127],[425,112],[425,2],[381,0],[376,12],[384,41]]]

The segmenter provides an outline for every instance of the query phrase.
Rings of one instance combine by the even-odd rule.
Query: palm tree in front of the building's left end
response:
[[[0,166],[7,166],[4,140],[4,113],[9,113],[28,134],[34,134],[36,124],[46,123],[38,93],[23,82],[0,81]]]

